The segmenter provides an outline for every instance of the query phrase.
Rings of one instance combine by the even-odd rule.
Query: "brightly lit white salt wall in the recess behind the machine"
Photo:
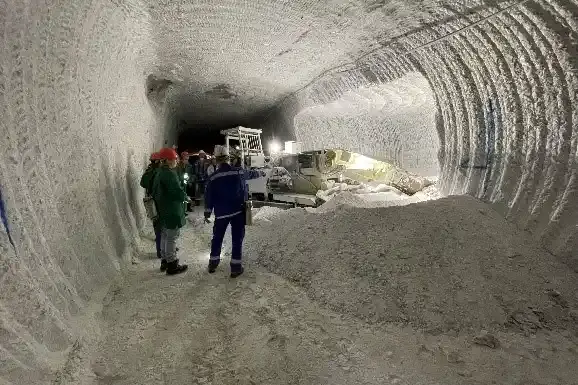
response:
[[[408,171],[436,176],[439,140],[435,111],[427,79],[412,72],[300,111],[295,116],[295,135],[297,140],[307,139],[303,143],[306,150],[343,147]],[[313,137],[312,130],[316,132]]]

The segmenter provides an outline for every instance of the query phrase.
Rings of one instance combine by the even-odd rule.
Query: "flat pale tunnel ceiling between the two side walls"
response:
[[[176,85],[180,119],[241,121],[399,37],[512,3],[149,0],[156,75]]]

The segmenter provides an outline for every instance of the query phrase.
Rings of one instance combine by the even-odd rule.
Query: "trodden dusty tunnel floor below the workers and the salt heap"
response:
[[[368,323],[320,306],[301,285],[254,263],[231,280],[225,256],[220,270],[207,274],[210,228],[193,219],[184,229],[185,274],[167,277],[145,254],[122,286],[111,289],[102,312],[105,335],[92,359],[96,384],[575,381],[571,330],[496,332],[500,346],[490,347],[473,343],[470,333]],[[256,231],[248,228],[249,240]]]

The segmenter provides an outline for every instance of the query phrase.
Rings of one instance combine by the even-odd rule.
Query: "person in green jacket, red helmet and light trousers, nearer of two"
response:
[[[153,179],[152,196],[156,203],[161,226],[161,271],[179,274],[187,270],[177,259],[177,240],[185,225],[187,195],[176,173],[179,156],[172,148],[159,151],[161,166]]]

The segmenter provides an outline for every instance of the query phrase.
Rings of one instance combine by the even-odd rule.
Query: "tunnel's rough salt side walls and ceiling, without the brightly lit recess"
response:
[[[458,1],[214,3],[2,2],[0,189],[16,243],[0,231],[2,380],[38,383],[90,344],[75,317],[138,251],[144,210],[131,199],[150,152],[176,137],[183,84],[203,95],[239,76],[231,116],[294,139],[320,106],[419,72],[435,99],[443,190],[493,203],[578,270],[576,0],[479,0],[471,12]],[[225,53],[231,62],[209,46],[227,25],[258,36]],[[253,66],[235,67],[247,53]],[[151,74],[166,95],[147,95]]]

